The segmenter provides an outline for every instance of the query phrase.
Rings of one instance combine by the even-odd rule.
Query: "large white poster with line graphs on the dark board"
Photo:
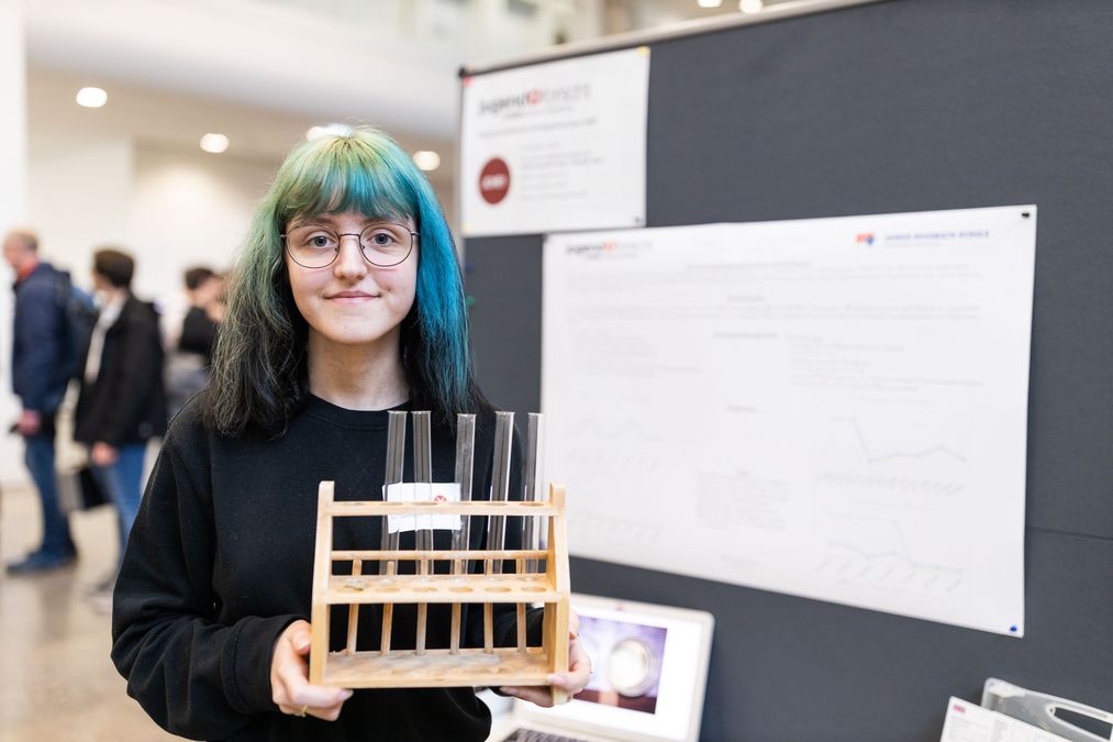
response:
[[[549,236],[577,556],[1024,634],[1036,209]]]

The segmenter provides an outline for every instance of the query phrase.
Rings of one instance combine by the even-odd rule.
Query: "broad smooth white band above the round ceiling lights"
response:
[[[35,67],[437,140],[456,127],[459,60],[279,4],[26,0]]]

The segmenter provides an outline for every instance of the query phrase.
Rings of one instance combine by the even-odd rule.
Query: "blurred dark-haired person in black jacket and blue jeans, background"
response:
[[[116,506],[120,555],[142,497],[147,441],[166,432],[158,313],[131,295],[135,261],[118,250],[93,254],[100,314],[78,397],[73,438],[89,447],[101,488]]]

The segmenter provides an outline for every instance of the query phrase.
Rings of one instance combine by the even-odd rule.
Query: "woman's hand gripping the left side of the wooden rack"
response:
[[[270,693],[284,714],[336,721],[352,691],[309,684],[309,623],[295,621],[275,642]]]

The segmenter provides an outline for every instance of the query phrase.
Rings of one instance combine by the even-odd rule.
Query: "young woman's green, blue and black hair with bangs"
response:
[[[295,147],[256,209],[213,358],[204,404],[211,429],[276,435],[305,403],[308,326],[294,304],[282,234],[293,219],[349,211],[411,217],[417,230],[417,290],[400,344],[411,402],[442,421],[487,408],[472,371],[460,264],[436,196],[393,139],[358,128]]]

